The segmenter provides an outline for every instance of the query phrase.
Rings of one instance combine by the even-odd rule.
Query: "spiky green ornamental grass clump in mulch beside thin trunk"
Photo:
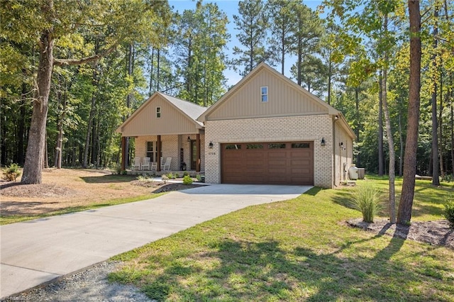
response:
[[[367,181],[356,189],[353,194],[353,206],[361,211],[362,220],[373,223],[374,217],[380,211],[380,191]]]

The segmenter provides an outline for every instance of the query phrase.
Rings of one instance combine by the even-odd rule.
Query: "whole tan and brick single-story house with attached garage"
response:
[[[175,157],[219,184],[347,179],[355,134],[343,114],[264,62],[209,108],[155,93],[118,130],[135,156]]]

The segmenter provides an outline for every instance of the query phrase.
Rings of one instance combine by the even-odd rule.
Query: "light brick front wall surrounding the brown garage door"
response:
[[[333,186],[333,127],[328,114],[245,118],[227,121],[206,121],[205,140],[213,149],[205,149],[206,181],[221,182],[220,144],[225,142],[314,142],[314,185]],[[326,145],[321,146],[324,138]]]

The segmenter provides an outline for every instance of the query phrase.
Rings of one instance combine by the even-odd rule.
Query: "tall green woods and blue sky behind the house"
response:
[[[25,162],[39,50],[24,28],[33,26],[31,20],[39,16],[41,2],[45,1],[1,1],[2,166]],[[128,2],[135,1],[117,4],[128,9]],[[160,1],[158,11],[133,23],[142,34],[118,40],[116,47],[86,64],[55,65],[43,166],[116,167],[121,161],[116,128],[155,91],[209,106],[265,61],[344,113],[357,135],[358,167],[387,174],[389,150],[394,150],[397,174],[402,175],[410,65],[406,2],[306,2]],[[77,3],[65,1],[59,16],[77,11]],[[185,5],[192,9],[184,9]],[[416,172],[450,179],[454,171],[454,3],[427,0],[420,1],[420,6]],[[11,30],[18,18],[24,28]],[[55,39],[55,57],[78,60],[103,52],[116,35],[115,25],[123,22],[115,18],[128,17],[111,17],[111,26],[89,22],[69,26],[65,35]],[[384,127],[386,119],[389,128]],[[129,160],[133,144],[131,140]]]

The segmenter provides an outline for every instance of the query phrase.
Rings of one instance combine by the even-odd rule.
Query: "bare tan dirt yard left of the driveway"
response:
[[[135,176],[115,175],[109,170],[44,169],[42,184],[0,181],[1,216],[31,216],[63,208],[105,203],[116,198],[144,196],[199,186],[140,184]],[[145,181],[150,183],[150,181]]]

